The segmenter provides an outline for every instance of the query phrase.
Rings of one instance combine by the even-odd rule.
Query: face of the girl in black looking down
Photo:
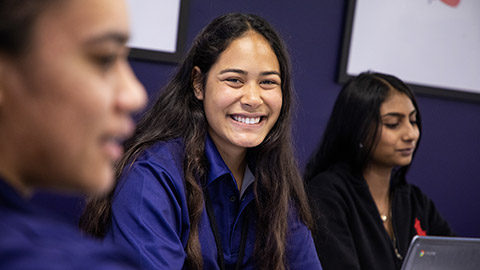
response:
[[[380,117],[380,137],[370,165],[391,169],[410,164],[420,137],[417,111],[411,99],[392,90],[380,107]]]

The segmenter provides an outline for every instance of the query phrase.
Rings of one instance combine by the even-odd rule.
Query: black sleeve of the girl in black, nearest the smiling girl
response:
[[[318,257],[325,270],[360,269],[348,224],[348,204],[336,184],[340,179],[335,178],[338,176],[333,173],[323,173],[307,183],[316,224],[313,235]]]

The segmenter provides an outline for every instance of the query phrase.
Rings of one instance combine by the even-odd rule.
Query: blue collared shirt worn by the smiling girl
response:
[[[207,189],[217,220],[227,269],[235,266],[245,208],[254,207],[252,186],[240,191],[212,140],[207,136],[210,163]],[[184,145],[180,139],[159,142],[127,167],[115,191],[109,239],[138,252],[145,269],[182,269],[190,222],[183,180]],[[248,174],[248,173],[247,173]],[[248,178],[248,176],[246,177]],[[254,215],[249,217],[242,269],[254,269]],[[289,269],[321,269],[312,236],[296,214],[290,214],[287,236]],[[207,213],[202,212],[199,238],[204,269],[219,269],[217,246]]]

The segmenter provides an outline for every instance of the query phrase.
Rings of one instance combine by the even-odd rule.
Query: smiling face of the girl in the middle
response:
[[[195,84],[209,134],[222,156],[242,154],[263,142],[280,114],[281,82],[275,53],[263,36],[250,31],[220,55],[204,90]]]

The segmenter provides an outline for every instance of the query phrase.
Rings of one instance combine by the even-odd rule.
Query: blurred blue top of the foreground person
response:
[[[0,269],[138,269],[129,255],[84,238],[0,179]]]

